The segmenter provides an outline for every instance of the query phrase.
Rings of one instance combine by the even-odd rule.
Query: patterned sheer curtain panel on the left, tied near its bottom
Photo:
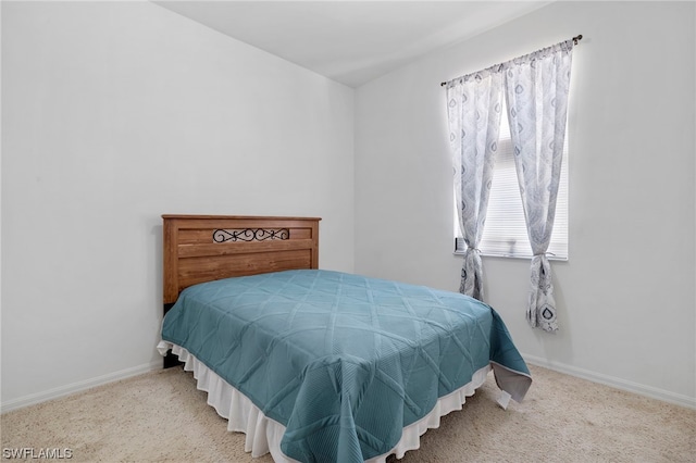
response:
[[[486,218],[500,130],[502,70],[494,66],[447,83],[449,141],[459,226],[467,250],[460,292],[483,300],[478,242]]]

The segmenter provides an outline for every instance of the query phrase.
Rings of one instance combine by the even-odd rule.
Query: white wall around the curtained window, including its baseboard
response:
[[[583,34],[570,124],[570,260],[560,331],[527,327],[529,261],[484,258],[526,358],[696,406],[695,5],[557,2],[356,93],[356,272],[457,290],[439,83]]]

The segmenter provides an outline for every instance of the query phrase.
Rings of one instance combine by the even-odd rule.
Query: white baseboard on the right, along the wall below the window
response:
[[[591,372],[588,370],[577,368],[560,362],[549,361],[539,356],[522,354],[525,362],[532,365],[543,366],[555,372],[564,373],[567,375],[587,379],[593,383],[599,383],[616,389],[625,390],[637,393],[639,396],[649,397],[651,399],[661,400],[663,402],[673,403],[688,409],[696,410],[696,398],[683,396],[681,393],[670,392],[669,390],[658,389],[651,386],[645,386],[625,379],[617,378],[601,373]]]

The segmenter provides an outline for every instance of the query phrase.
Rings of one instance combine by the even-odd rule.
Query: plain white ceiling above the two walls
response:
[[[154,1],[350,87],[551,1]]]

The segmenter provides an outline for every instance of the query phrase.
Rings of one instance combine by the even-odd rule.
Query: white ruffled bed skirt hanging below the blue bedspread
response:
[[[251,400],[203,365],[186,349],[166,341],[161,341],[157,348],[162,355],[172,349],[172,353],[184,362],[184,371],[194,372],[198,389],[208,392],[208,404],[214,408],[220,416],[227,420],[227,430],[246,435],[245,451],[251,452],[251,456],[261,456],[271,452],[276,463],[299,463],[281,451],[281,439],[285,433],[285,426],[265,416]],[[427,429],[439,427],[440,416],[461,410],[467,398],[473,396],[475,390],[484,384],[489,371],[489,365],[484,366],[474,373],[471,383],[442,397],[426,416],[403,428],[401,440],[394,449],[368,460],[368,463],[384,463],[391,453],[396,454],[397,459],[401,459],[407,451],[420,448],[421,436]]]

